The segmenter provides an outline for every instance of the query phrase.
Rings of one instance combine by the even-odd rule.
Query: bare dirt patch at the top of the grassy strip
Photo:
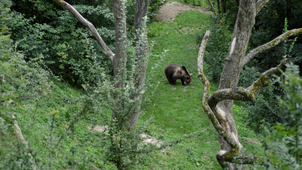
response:
[[[186,10],[197,10],[203,13],[213,13],[211,10],[199,6],[191,6],[182,4],[180,2],[167,2],[164,4],[156,14],[156,18],[161,21],[173,20],[177,14]]]

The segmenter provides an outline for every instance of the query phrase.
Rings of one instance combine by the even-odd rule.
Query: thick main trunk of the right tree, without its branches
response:
[[[231,44],[228,48],[227,57],[225,59],[224,69],[221,74],[219,89],[232,88],[237,86],[239,74],[243,67],[242,56],[245,56],[252,28],[255,24],[256,4],[255,0],[240,0],[237,20],[233,32]],[[233,135],[239,148],[242,145],[239,140],[236,125],[233,119],[232,100],[225,100],[218,104],[217,113],[220,115],[218,121],[226,129],[228,134]],[[224,140],[223,136],[219,136],[221,150],[229,151],[230,146]],[[234,167],[229,164],[230,170]]]

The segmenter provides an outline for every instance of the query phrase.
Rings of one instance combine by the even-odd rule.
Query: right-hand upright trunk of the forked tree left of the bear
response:
[[[136,64],[139,71],[134,73],[136,78],[136,89],[145,85],[146,71],[149,60],[149,43],[147,36],[146,21],[143,21],[143,17],[147,16],[149,0],[137,0],[134,16],[134,28],[136,33]],[[137,93],[134,98],[138,98],[138,106],[135,112],[130,116],[130,130],[135,130],[137,120],[141,111],[142,94]]]

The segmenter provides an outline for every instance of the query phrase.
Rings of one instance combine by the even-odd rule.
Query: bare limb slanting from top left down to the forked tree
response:
[[[78,13],[78,11],[71,4],[67,3],[66,1],[64,1],[64,0],[53,0],[53,1],[55,1],[57,4],[62,6],[64,9],[67,9],[70,13],[72,13],[76,17],[76,19],[81,24],[83,24],[85,27],[87,27],[92,32],[92,34],[95,37],[95,39],[97,40],[97,42],[102,46],[103,50],[105,51],[105,54],[110,58],[111,63],[113,63],[113,57],[114,57],[113,52],[110,50],[110,48],[107,46],[107,44],[103,41],[102,37],[100,36],[98,31],[95,29],[93,24],[91,24],[91,22],[87,21],[80,13]]]

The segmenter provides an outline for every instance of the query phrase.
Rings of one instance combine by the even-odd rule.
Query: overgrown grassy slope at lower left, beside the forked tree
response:
[[[22,102],[25,107],[16,107],[17,122],[35,153],[39,167],[57,170],[73,169],[75,165],[82,169],[84,164],[87,170],[114,167],[104,161],[104,148],[100,146],[106,144],[106,141],[101,140],[100,134],[88,130],[88,127],[94,125],[105,125],[110,116],[104,115],[110,115],[109,112],[100,110],[103,114],[93,113],[81,117],[73,128],[73,134],[67,136],[68,121],[83,108],[81,97],[85,94],[66,83],[56,80],[49,80],[49,83],[52,84],[49,93]],[[57,113],[53,120],[51,115],[54,111]],[[61,136],[65,137],[58,147]]]

